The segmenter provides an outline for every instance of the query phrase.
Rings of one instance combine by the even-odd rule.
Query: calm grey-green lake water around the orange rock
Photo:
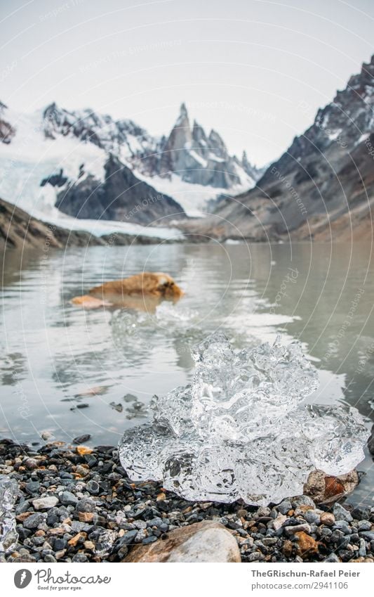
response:
[[[309,402],[374,406],[374,271],[368,245],[149,245],[7,251],[0,435],[41,432],[114,444],[147,421],[153,394],[192,376],[189,347],[222,330],[236,347],[302,342],[321,385]],[[155,314],[84,311],[69,299],[104,281],[165,271],[185,290]],[[82,405],[88,405],[81,408]],[[373,503],[373,461],[349,501]]]

